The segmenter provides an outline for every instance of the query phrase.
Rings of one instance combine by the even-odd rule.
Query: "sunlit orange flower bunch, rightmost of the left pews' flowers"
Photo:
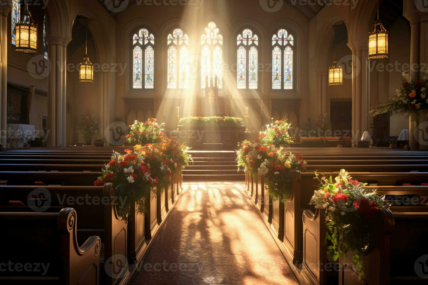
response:
[[[161,150],[166,157],[163,164],[168,166],[173,174],[178,174],[186,165],[193,162],[192,157],[187,153],[190,147],[180,144],[174,139],[166,138],[162,142]]]

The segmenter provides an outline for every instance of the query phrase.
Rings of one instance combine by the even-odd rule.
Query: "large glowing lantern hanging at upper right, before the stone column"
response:
[[[388,31],[379,19],[379,8],[377,8],[377,20],[372,32],[369,32],[369,59],[388,58]]]

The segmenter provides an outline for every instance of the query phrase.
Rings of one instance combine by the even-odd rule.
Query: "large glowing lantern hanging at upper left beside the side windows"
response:
[[[15,26],[15,50],[19,53],[37,53],[37,25],[34,24],[28,3],[25,4],[25,11],[22,19]]]

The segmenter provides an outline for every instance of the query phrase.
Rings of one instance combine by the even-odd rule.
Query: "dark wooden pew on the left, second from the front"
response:
[[[77,244],[83,244],[92,235],[101,238],[104,249],[100,258],[101,280],[106,284],[119,284],[121,279],[129,278],[128,259],[118,261],[122,263],[121,268],[117,267],[118,262],[105,264],[106,260],[128,256],[128,224],[117,215],[116,206],[121,202],[113,184],[43,188],[0,185],[0,194],[0,212],[59,212],[67,207],[74,208],[80,220],[76,227]],[[9,203],[11,200],[15,203]]]

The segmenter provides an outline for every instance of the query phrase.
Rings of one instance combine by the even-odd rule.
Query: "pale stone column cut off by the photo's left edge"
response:
[[[7,123],[7,48],[11,44],[8,39],[8,15],[11,10],[9,1],[0,0],[0,142],[6,147],[6,123]]]

